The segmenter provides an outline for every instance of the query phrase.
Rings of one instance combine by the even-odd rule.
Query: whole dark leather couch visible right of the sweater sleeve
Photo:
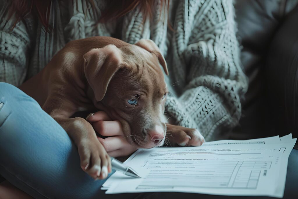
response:
[[[235,1],[249,77],[240,125],[229,138],[298,135],[298,1]]]

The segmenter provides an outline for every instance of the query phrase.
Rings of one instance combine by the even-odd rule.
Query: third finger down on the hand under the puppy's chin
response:
[[[127,143],[127,141],[123,139],[122,136],[119,136],[119,135],[108,137],[105,139],[97,137],[97,139],[103,145],[106,152],[111,152],[111,151],[120,149],[123,146],[125,146]]]

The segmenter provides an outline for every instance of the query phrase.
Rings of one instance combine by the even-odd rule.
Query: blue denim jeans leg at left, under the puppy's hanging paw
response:
[[[0,82],[1,102],[0,175],[34,198],[113,198],[100,190],[105,180],[83,172],[75,144],[33,98]]]

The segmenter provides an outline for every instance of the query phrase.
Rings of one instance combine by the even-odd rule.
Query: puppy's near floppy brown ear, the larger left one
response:
[[[84,72],[97,101],[105,96],[113,75],[122,67],[121,50],[110,44],[102,48],[91,49],[83,55]]]

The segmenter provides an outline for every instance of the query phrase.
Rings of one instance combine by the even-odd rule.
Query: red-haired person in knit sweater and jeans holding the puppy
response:
[[[169,69],[165,79],[171,95],[165,114],[171,123],[196,128],[211,141],[240,119],[248,82],[232,1],[14,0],[0,5],[0,81],[6,82],[0,83],[4,198],[108,197],[100,190],[105,180],[94,181],[80,168],[77,149],[64,129],[17,88],[68,41],[112,36],[134,44],[151,39]],[[96,131],[105,129],[112,136],[99,138],[109,155],[134,152],[123,139],[121,125],[109,120],[104,112],[88,118]]]

